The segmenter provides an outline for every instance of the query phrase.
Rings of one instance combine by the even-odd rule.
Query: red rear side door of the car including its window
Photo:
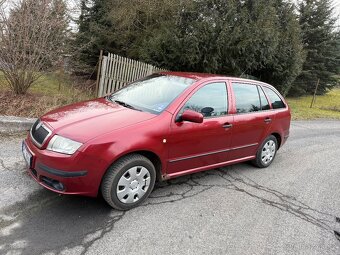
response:
[[[266,137],[275,114],[261,86],[232,82],[234,123],[230,160],[252,157]]]

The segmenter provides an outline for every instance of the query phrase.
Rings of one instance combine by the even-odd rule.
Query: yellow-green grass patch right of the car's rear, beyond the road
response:
[[[313,96],[288,98],[294,120],[338,119],[340,120],[340,88],[334,88],[323,96],[317,96],[313,108],[310,103]]]

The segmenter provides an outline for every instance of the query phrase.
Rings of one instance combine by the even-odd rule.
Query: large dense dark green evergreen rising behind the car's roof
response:
[[[170,70],[250,76],[286,94],[303,62],[294,8],[284,0],[196,1],[147,38],[143,56]]]

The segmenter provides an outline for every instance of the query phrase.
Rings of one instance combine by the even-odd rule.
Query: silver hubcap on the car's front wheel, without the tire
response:
[[[117,197],[124,204],[131,204],[141,199],[150,186],[150,172],[143,166],[128,169],[120,177],[117,185]]]

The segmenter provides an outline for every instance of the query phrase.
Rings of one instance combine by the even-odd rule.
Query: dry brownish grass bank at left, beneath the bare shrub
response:
[[[60,106],[93,97],[94,93],[86,82],[60,73],[45,74],[26,95],[15,95],[0,73],[0,115],[38,117]]]

